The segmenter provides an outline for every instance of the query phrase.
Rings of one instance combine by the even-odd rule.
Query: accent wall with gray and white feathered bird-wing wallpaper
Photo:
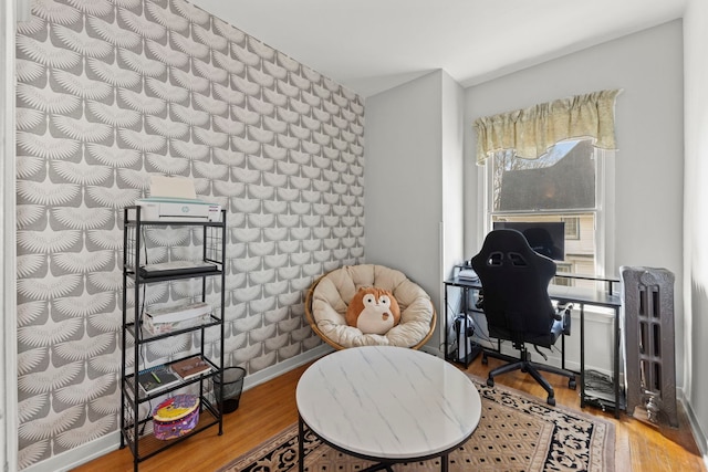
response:
[[[304,293],[364,258],[357,95],[184,0],[32,11],[17,36],[21,468],[117,429],[123,208],[150,174],[190,177],[227,209],[225,356],[249,374],[321,344]],[[189,230],[148,239],[178,247],[163,259],[199,243]]]

